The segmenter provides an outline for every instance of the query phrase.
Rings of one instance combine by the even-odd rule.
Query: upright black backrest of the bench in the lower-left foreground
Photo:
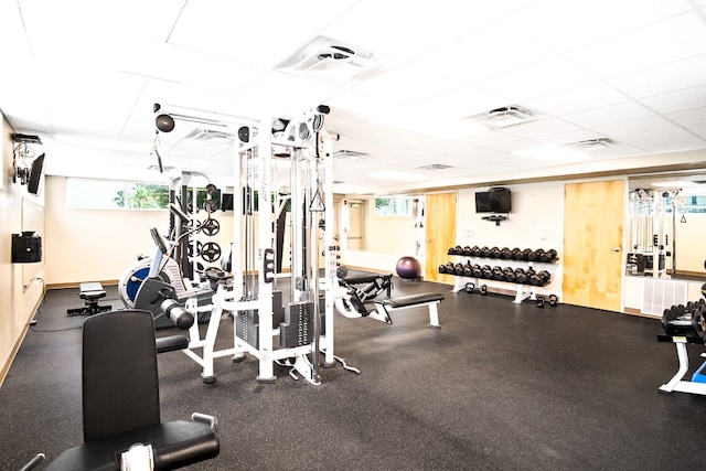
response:
[[[83,328],[84,442],[160,422],[152,314],[113,311]]]

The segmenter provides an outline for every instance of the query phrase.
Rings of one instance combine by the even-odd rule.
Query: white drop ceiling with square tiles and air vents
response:
[[[706,0],[7,0],[0,41],[0,109],[53,175],[167,181],[154,104],[325,104],[340,193],[706,168]],[[532,119],[475,119],[509,107]],[[228,184],[233,142],[192,131],[159,136],[164,165]]]

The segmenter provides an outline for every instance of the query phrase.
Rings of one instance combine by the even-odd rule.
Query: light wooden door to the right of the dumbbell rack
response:
[[[624,182],[568,183],[564,191],[563,302],[620,312]]]

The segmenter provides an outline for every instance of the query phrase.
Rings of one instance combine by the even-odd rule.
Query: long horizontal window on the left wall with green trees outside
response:
[[[68,207],[86,210],[165,208],[169,186],[117,180],[67,179]]]

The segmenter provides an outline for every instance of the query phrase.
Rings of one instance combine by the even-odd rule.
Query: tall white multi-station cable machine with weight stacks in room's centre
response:
[[[229,258],[234,282],[232,288],[218,287],[205,338],[201,340],[197,327],[192,327],[190,347],[184,351],[203,366],[202,378],[206,383],[215,381],[214,358],[233,356],[240,361],[245,354],[258,360],[260,383],[276,381],[275,363],[290,367],[292,377],[301,376],[312,384],[320,384],[321,364],[333,366],[339,361],[355,371],[333,354],[338,247],[333,246],[332,227],[332,146],[322,129],[328,113],[328,107],[319,106],[290,121],[264,119],[259,127],[238,129],[242,144],[234,165],[234,239]],[[290,164],[291,289],[287,301],[276,289],[276,232],[284,207],[281,195],[275,191],[272,146],[287,149]],[[319,247],[320,234],[323,248]],[[320,253],[324,258],[323,274]],[[233,314],[234,346],[214,351],[224,311]],[[203,349],[201,356],[193,351],[197,347]]]

